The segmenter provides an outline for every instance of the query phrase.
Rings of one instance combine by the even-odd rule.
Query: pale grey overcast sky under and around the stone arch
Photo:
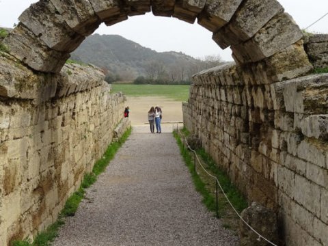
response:
[[[18,16],[38,0],[0,0],[0,26],[12,27]],[[302,29],[328,12],[327,0],[278,0]],[[328,33],[328,16],[307,31]],[[118,34],[155,51],[182,51],[193,57],[221,55],[231,60],[231,51],[222,51],[212,40],[212,33],[197,23],[191,25],[176,18],[133,16],[111,27],[101,25],[96,33]]]

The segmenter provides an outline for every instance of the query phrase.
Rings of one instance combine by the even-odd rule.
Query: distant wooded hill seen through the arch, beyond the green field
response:
[[[139,76],[170,81],[187,80],[195,72],[218,61],[201,61],[189,55],[156,52],[118,35],[94,34],[84,40],[72,54],[72,59],[94,64],[111,77],[134,80]]]

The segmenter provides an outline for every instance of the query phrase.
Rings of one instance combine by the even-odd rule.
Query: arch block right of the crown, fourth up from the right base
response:
[[[198,23],[215,32],[226,25],[236,12],[241,0],[208,0],[202,14],[198,17]]]

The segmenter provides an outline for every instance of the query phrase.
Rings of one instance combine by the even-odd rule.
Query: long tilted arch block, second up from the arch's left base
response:
[[[85,37],[72,31],[61,14],[57,13],[50,1],[41,0],[33,3],[18,19],[50,49],[70,53]]]

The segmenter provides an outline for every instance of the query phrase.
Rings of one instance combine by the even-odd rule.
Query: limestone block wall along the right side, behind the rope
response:
[[[286,245],[328,245],[328,74],[273,83],[262,68],[196,74],[184,126],[249,202],[277,211]]]

